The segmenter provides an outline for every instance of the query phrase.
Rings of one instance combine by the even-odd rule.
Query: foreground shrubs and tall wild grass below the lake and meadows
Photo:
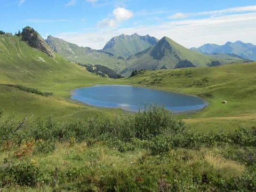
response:
[[[0,121],[3,191],[256,190],[256,127],[197,133],[155,106],[68,124],[13,119]]]

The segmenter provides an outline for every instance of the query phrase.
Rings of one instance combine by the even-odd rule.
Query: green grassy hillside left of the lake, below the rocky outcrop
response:
[[[0,86],[0,103],[7,113],[20,116],[72,117],[92,113],[107,114],[108,109],[69,102],[70,91],[79,86],[89,86],[111,80],[87,73],[83,67],[68,62],[56,54],[55,59],[31,48],[16,36],[0,35],[0,82],[21,84],[41,91],[53,92],[52,97],[22,92],[14,87]],[[111,110],[112,111],[112,110]],[[116,110],[118,111],[118,110]],[[93,114],[93,113],[92,113]]]

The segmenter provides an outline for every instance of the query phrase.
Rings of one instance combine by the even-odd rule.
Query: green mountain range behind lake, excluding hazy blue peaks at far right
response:
[[[203,54],[189,50],[168,37],[160,41],[149,35],[120,35],[113,37],[102,50],[80,47],[63,39],[49,36],[46,42],[62,57],[83,64],[102,65],[129,76],[133,70],[155,70],[191,66],[203,67],[212,61],[220,64],[243,62],[236,55]]]

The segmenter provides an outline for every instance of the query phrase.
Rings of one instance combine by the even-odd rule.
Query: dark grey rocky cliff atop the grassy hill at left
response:
[[[54,58],[54,52],[44,39],[31,27],[25,27],[21,33],[22,41],[27,41],[31,47],[34,47]]]

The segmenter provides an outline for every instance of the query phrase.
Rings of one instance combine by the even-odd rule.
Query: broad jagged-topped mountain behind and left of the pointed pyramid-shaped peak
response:
[[[103,48],[103,51],[114,54],[116,56],[127,58],[148,49],[150,46],[155,45],[157,42],[158,39],[149,35],[140,36],[138,34],[123,34],[111,38]]]

